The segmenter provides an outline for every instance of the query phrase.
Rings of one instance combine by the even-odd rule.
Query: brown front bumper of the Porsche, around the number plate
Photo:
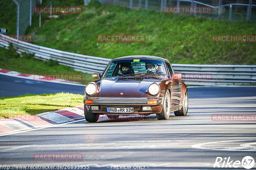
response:
[[[86,103],[86,100],[92,103]],[[156,104],[148,104],[148,101],[157,101]],[[118,114],[118,115],[133,115],[133,114],[153,114],[160,113],[163,109],[164,97],[148,97],[148,98],[130,98],[130,97],[84,97],[84,105],[92,113],[99,114]],[[99,110],[92,110],[91,106],[99,106]],[[150,111],[142,110],[142,106],[151,106]],[[134,113],[108,113],[107,107],[133,107]]]

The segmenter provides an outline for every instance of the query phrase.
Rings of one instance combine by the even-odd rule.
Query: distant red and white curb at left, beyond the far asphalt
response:
[[[20,73],[17,71],[5,70],[2,68],[0,68],[0,74],[14,76],[14,77],[21,77],[21,78],[26,78],[26,79],[36,80],[36,81],[50,81],[50,82],[58,82],[58,83],[61,83],[61,82],[73,83],[74,82],[74,81],[68,81],[68,80],[64,80],[64,79],[45,77],[45,76],[36,75],[36,74],[24,74],[24,73]],[[75,82],[75,83],[77,83],[77,82]]]

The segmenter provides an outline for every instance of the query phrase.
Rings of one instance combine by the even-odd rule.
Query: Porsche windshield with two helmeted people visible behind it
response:
[[[116,60],[108,65],[103,78],[146,75],[166,75],[164,62],[148,59]]]

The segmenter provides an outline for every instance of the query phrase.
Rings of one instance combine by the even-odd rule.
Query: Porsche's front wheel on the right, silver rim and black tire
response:
[[[156,113],[156,118],[158,120],[166,120],[170,116],[170,108],[171,108],[171,97],[170,92],[167,90],[165,98],[164,98],[164,106],[161,113]]]

